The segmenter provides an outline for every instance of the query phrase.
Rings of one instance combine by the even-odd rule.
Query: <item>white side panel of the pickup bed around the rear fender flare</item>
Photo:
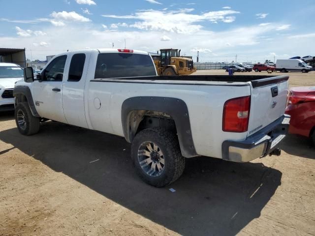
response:
[[[189,110],[193,143],[198,155],[221,158],[225,140],[244,140],[247,132],[222,131],[222,112],[226,100],[251,95],[247,86],[139,84],[117,82],[89,82],[87,106],[88,122],[92,129],[124,136],[122,104],[130,97],[160,96],[182,99]],[[95,109],[95,98],[101,102]]]

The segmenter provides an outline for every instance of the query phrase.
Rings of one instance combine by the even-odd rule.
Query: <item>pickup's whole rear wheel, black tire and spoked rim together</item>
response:
[[[160,127],[142,130],[135,136],[131,158],[139,177],[155,187],[175,181],[185,168],[176,134]]]

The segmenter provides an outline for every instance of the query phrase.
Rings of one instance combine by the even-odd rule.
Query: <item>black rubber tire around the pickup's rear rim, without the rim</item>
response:
[[[158,145],[165,159],[164,171],[160,176],[151,177],[144,172],[138,161],[138,150],[143,142],[150,141]],[[185,157],[181,154],[177,135],[164,128],[148,128],[140,131],[132,141],[131,159],[138,176],[155,187],[164,187],[181,177],[185,169]]]

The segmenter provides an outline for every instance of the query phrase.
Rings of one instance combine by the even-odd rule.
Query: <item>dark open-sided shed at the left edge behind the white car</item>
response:
[[[25,48],[0,48],[0,62],[15,63],[26,67]]]

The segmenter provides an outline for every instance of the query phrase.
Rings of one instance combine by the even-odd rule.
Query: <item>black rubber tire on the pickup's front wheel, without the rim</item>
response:
[[[25,128],[21,128],[18,123],[18,114],[24,114]],[[15,107],[14,112],[15,123],[19,132],[23,135],[33,135],[39,130],[39,118],[32,115],[28,102],[20,102]]]

